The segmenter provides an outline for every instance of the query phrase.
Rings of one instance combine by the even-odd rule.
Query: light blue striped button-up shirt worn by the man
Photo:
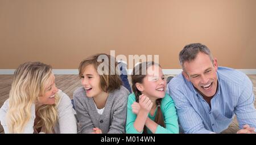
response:
[[[167,93],[174,100],[185,133],[220,133],[228,128],[234,114],[240,129],[246,124],[256,127],[251,80],[242,72],[228,67],[218,67],[217,78],[218,88],[210,101],[211,108],[182,74],[168,83]]]

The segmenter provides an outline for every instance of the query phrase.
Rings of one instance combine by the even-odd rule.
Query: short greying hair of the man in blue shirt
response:
[[[188,44],[188,45],[185,45],[185,47],[183,48],[183,50],[180,51],[180,54],[179,54],[180,65],[182,66],[183,70],[184,70],[184,66],[183,66],[184,62],[193,61],[199,52],[207,54],[210,57],[210,60],[213,62],[212,53],[210,53],[210,50],[209,48],[207,48],[207,46],[200,43]]]

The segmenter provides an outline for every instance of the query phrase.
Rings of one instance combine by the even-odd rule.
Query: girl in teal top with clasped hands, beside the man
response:
[[[133,92],[127,103],[126,133],[179,133],[174,101],[165,93],[166,79],[154,62],[135,66]]]

